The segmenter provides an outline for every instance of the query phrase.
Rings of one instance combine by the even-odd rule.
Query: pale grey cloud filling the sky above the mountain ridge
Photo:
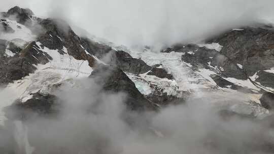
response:
[[[224,30],[274,21],[271,0],[12,0],[0,10],[15,5],[30,8],[37,16],[66,20],[79,34],[88,32],[128,47],[200,42]]]

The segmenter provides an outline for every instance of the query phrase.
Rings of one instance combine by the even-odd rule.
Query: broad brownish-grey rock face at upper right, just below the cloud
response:
[[[221,54],[244,67],[248,76],[274,65],[274,32],[263,28],[246,27],[230,31],[213,40],[223,46]]]

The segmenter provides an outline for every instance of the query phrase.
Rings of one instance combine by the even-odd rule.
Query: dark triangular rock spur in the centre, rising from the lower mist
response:
[[[96,83],[102,85],[107,92],[124,92],[127,94],[126,104],[132,110],[154,109],[155,107],[149,102],[135,87],[134,83],[119,68],[99,65],[96,67],[90,78]]]

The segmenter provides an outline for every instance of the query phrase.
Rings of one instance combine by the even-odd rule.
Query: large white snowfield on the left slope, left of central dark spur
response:
[[[38,46],[41,43],[36,42]],[[49,54],[53,60],[45,65],[35,65],[37,70],[25,76],[23,79],[10,83],[5,89],[0,89],[0,125],[4,125],[6,120],[3,108],[11,105],[16,99],[23,102],[32,98],[32,93],[41,92],[44,94],[51,93],[56,84],[67,83],[74,84],[73,79],[87,78],[92,72],[88,61],[76,60],[67,54],[67,49],[63,47],[66,54],[59,54],[57,50],[50,50],[46,47],[40,49]]]

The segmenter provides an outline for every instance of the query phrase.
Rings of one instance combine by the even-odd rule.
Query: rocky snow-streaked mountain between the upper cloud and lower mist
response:
[[[65,21],[14,7],[0,20],[0,125],[29,118],[25,110],[51,114],[55,92],[82,89],[80,80],[86,79],[102,91],[126,93],[132,111],[198,102],[263,119],[274,107],[273,28],[235,28],[203,44],[129,49],[81,37]],[[20,110],[15,115],[7,111],[14,107]]]

